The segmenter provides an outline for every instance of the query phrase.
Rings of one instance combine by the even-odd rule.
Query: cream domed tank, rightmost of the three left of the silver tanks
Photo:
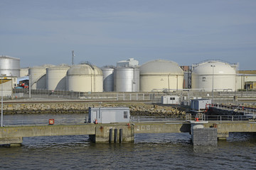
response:
[[[73,65],[67,72],[68,91],[102,92],[103,74],[90,64]]]

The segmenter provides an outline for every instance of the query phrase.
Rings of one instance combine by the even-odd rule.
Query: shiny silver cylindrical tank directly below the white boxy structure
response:
[[[117,67],[114,69],[114,91],[139,91],[139,69],[134,67]]]

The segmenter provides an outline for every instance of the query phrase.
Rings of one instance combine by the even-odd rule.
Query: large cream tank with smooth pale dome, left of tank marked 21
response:
[[[183,70],[176,62],[154,60],[139,67],[141,91],[183,89]]]

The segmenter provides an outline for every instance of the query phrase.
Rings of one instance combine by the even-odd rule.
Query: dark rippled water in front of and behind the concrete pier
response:
[[[45,118],[48,115],[10,115]],[[83,118],[83,115],[51,115]],[[0,147],[0,169],[256,169],[256,135],[230,133],[216,147],[193,147],[191,136],[135,135],[133,144],[92,144],[88,136],[24,137]]]

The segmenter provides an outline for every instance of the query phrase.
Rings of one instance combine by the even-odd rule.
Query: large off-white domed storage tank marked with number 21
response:
[[[235,91],[236,68],[226,62],[207,61],[193,66],[192,89]]]

